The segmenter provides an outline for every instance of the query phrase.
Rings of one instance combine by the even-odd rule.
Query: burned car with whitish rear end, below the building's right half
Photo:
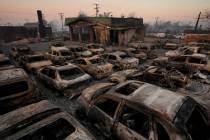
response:
[[[131,68],[137,68],[139,60],[134,57],[130,57],[128,54],[122,51],[116,51],[114,53],[103,54],[102,57],[114,65],[114,70],[125,70]]]

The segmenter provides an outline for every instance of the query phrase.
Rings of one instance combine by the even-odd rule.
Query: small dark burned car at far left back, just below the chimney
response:
[[[10,57],[17,61],[19,57],[22,57],[23,55],[29,55],[29,54],[32,55],[34,54],[34,52],[27,45],[18,45],[18,46],[12,47],[9,51]]]

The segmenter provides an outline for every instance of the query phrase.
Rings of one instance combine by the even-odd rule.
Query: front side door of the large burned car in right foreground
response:
[[[120,102],[108,97],[100,97],[91,103],[88,117],[94,125],[107,137],[112,135],[112,127],[118,112]]]

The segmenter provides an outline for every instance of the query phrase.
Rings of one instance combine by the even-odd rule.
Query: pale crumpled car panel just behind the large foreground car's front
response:
[[[111,82],[121,83],[126,81],[128,77],[133,76],[137,72],[138,72],[137,69],[127,69],[123,71],[118,71],[110,75],[108,79]]]

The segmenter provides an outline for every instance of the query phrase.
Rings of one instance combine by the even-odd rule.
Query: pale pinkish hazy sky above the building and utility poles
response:
[[[114,17],[135,13],[144,22],[159,20],[194,22],[200,11],[210,8],[209,0],[1,0],[0,24],[22,24],[36,22],[36,10],[42,10],[47,21],[59,21],[58,13],[64,17],[78,16],[80,11],[94,16],[94,3],[99,3],[100,13],[112,12]]]

